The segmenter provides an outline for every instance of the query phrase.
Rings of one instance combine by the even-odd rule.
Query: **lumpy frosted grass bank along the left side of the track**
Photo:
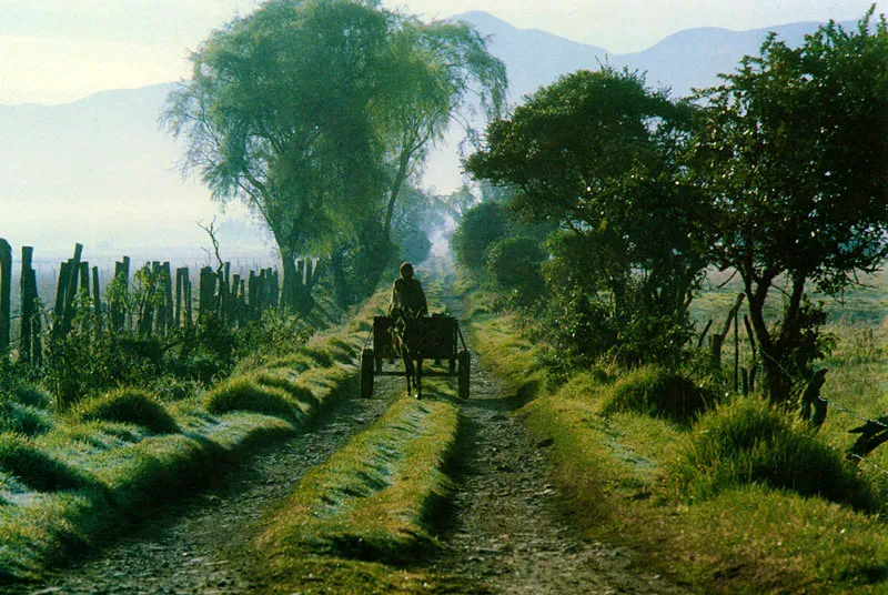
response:
[[[359,317],[372,316],[377,302]],[[293,367],[239,366],[209,391],[215,397],[169,410],[124,389],[39,435],[0,433],[0,584],[39,578],[203,485],[221,464],[299,432],[347,394],[364,339],[360,323],[350,322],[294,353]],[[250,394],[239,394],[239,385]]]

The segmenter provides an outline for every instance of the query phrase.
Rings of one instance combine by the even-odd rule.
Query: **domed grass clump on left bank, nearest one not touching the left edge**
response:
[[[131,423],[155,434],[175,434],[179,426],[172,415],[151,394],[139,389],[118,389],[98,399],[80,403],[75,417],[80,421]]]

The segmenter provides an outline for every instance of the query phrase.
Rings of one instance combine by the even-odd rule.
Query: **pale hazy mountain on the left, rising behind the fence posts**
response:
[[[209,236],[196,222],[219,212],[210,192],[183,180],[182,147],[160,129],[170,84],[105,91],[62,105],[0,105],[0,238],[38,258],[82,242],[94,256],[189,251]],[[222,219],[223,248],[268,252],[242,209]],[[228,219],[228,221],[225,221]],[[158,253],[160,252],[160,253]]]

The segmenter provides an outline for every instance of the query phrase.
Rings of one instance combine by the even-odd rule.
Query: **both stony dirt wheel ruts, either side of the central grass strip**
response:
[[[463,403],[465,445],[442,551],[417,571],[440,593],[682,593],[633,564],[630,552],[579,537],[569,504],[549,484],[546,444],[511,415],[514,400],[473,354],[472,399]],[[41,585],[0,593],[229,594],[261,587],[246,549],[266,506],[311,466],[343,446],[403,396],[402,379],[381,379],[374,399],[345,400],[312,431],[278,443],[224,474],[94,557]],[[353,391],[357,393],[355,389]]]

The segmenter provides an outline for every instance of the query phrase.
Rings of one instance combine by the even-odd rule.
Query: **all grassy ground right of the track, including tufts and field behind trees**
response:
[[[888,412],[888,291],[885,278],[870,281],[828,304],[838,341],[823,362],[824,395],[877,416]],[[735,298],[730,283],[712,289],[695,319],[722,324]],[[847,461],[859,418],[834,406],[814,432],[756,397],[702,396],[657,369],[547,382],[545,345],[523,337],[517,316],[474,312],[477,351],[524,394],[519,415],[537,437],[554,441],[554,468],[589,538],[627,544],[700,593],[888,593],[888,447],[872,465]],[[731,333],[723,361],[733,347]],[[678,405],[706,412],[664,414]]]

